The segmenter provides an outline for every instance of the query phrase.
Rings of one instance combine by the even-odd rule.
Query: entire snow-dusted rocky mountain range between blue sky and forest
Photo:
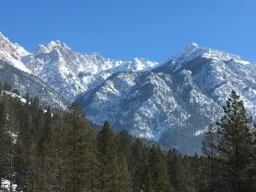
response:
[[[60,41],[28,53],[0,37],[0,58],[79,102],[94,123],[108,119],[116,130],[125,128],[185,153],[200,148],[202,133],[220,118],[231,90],[255,116],[256,63],[238,55],[193,43],[162,63],[119,61],[80,54]]]

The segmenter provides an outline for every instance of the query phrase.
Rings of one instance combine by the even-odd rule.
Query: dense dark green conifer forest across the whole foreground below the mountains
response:
[[[38,98],[20,102],[3,89],[10,88],[0,89],[0,181],[9,180],[10,191],[256,191],[256,129],[234,91],[202,154],[187,156],[114,133],[108,121],[95,131],[77,104],[53,113]]]

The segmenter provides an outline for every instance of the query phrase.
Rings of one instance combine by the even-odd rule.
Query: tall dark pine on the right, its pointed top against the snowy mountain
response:
[[[253,135],[248,127],[250,122],[240,96],[233,90],[224,107],[224,116],[218,123],[218,159],[226,191],[245,191],[247,180],[243,175],[250,165],[253,151]]]

